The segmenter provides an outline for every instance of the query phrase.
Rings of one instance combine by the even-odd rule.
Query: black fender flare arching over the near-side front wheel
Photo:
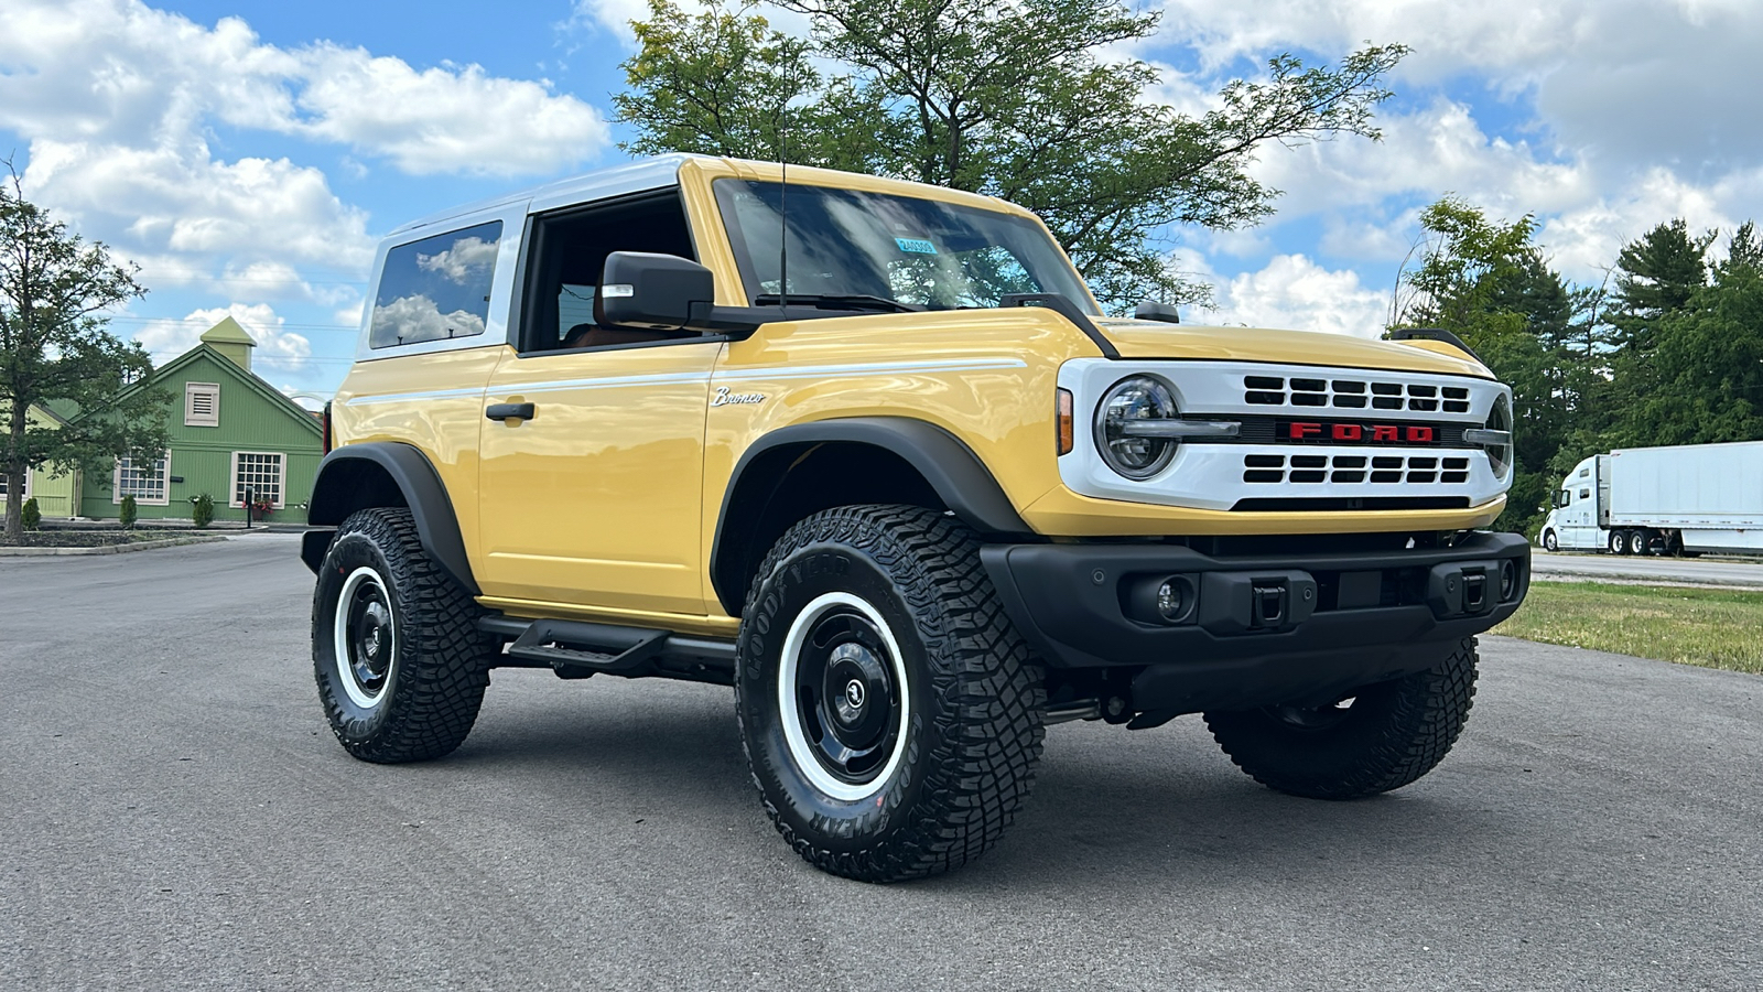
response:
[[[730,517],[749,519],[749,512],[770,500],[776,478],[760,477],[769,466],[781,461],[786,468],[800,454],[825,443],[867,445],[899,455],[924,477],[948,510],[984,538],[1035,538],[986,462],[961,438],[936,424],[910,417],[841,417],[779,427],[740,454],[716,517],[710,588],[728,616],[740,616],[746,588],[740,586],[739,572],[755,551],[746,547],[748,535],[730,528]],[[749,477],[755,466],[760,471]]]

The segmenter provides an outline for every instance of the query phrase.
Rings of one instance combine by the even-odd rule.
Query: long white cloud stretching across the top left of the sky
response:
[[[263,44],[139,0],[11,0],[0,127],[32,139],[162,147],[213,118],[349,145],[413,175],[532,175],[598,155],[599,111],[478,65],[414,69],[361,48]]]

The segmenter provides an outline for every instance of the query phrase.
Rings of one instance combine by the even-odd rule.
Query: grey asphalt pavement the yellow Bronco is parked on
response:
[[[455,755],[353,761],[294,547],[0,561],[0,988],[1763,987],[1758,676],[1488,637],[1454,754],[1356,803],[1065,724],[993,853],[867,886],[726,688],[497,671]]]

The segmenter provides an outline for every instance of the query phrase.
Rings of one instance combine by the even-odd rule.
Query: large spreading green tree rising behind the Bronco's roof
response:
[[[1190,302],[1169,265],[1178,224],[1229,229],[1273,212],[1248,166],[1262,147],[1377,139],[1382,79],[1407,48],[1338,67],[1280,55],[1201,116],[1149,99],[1158,71],[1104,51],[1151,35],[1118,0],[781,0],[813,39],[751,7],[688,14],[651,0],[624,62],[619,120],[636,154],[702,152],[867,171],[1000,196],[1042,215],[1104,304]],[[825,71],[818,71],[825,65]]]

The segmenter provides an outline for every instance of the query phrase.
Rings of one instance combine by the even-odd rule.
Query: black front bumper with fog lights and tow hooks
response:
[[[1139,711],[1298,703],[1425,671],[1530,586],[1520,535],[1451,547],[1211,556],[1169,544],[994,544],[1005,609],[1056,669],[1127,669]],[[1157,588],[1181,593],[1172,616]],[[1134,671],[1139,669],[1139,671]]]

